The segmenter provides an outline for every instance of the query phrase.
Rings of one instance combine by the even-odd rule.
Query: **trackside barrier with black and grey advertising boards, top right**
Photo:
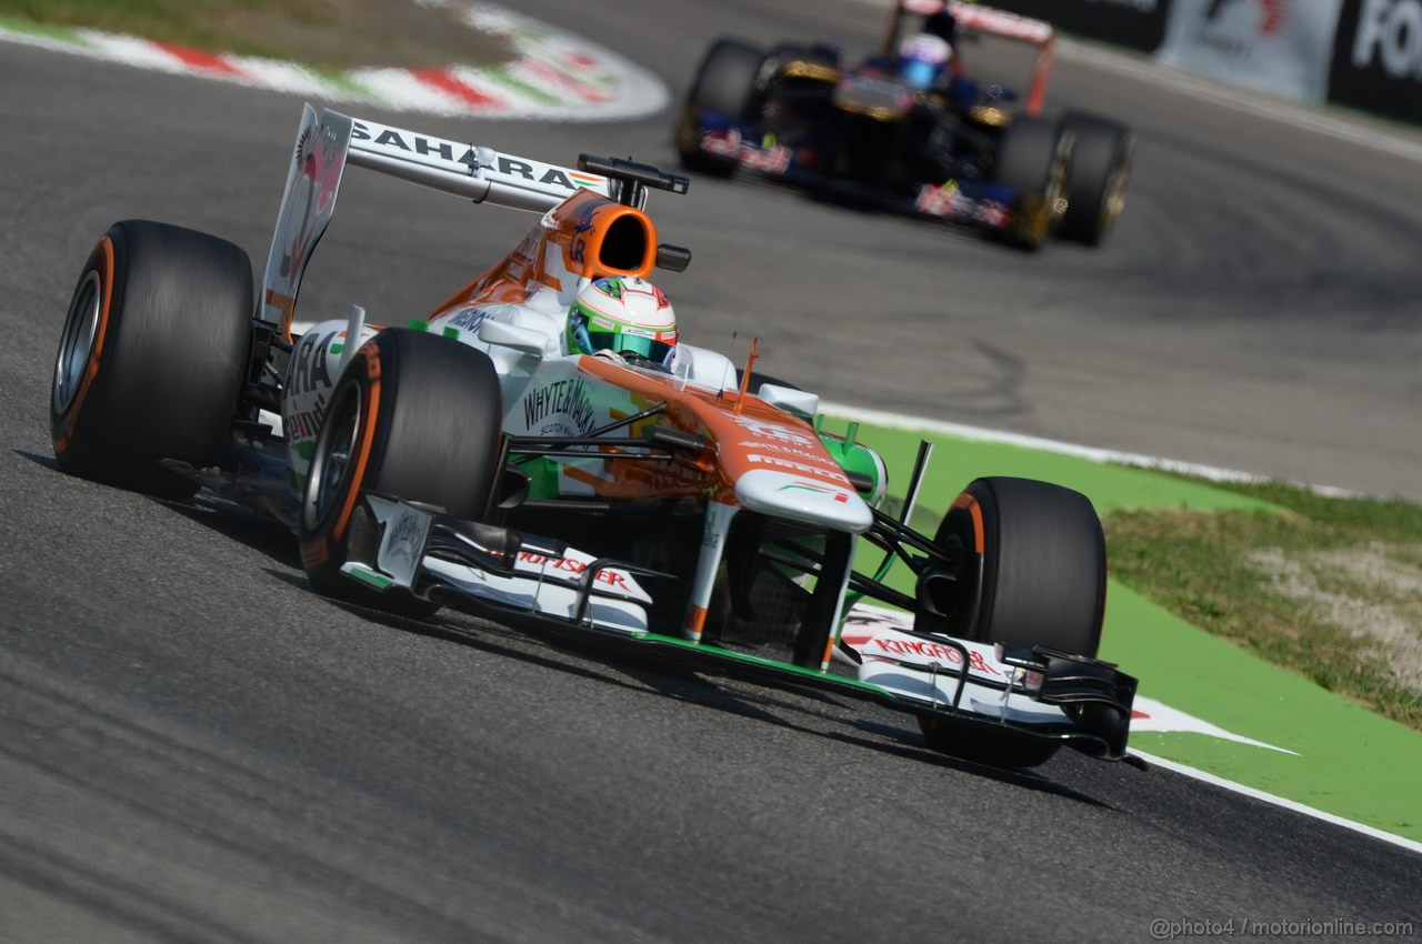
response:
[[[987,0],[1298,101],[1422,124],[1422,0]]]

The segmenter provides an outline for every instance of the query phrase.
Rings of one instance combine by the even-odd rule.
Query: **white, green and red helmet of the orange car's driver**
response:
[[[597,279],[573,299],[567,350],[611,351],[670,367],[677,350],[677,316],[661,289],[636,276]]]

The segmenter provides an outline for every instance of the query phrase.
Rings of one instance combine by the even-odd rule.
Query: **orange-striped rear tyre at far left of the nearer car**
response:
[[[252,314],[246,252],[166,223],[115,223],[84,264],[60,338],[50,388],[60,468],[162,498],[196,492],[159,462],[216,461]]]

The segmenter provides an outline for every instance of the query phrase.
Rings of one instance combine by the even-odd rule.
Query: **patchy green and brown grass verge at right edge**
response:
[[[1112,576],[1182,620],[1422,729],[1422,506],[1214,483],[1283,508],[1113,509]]]

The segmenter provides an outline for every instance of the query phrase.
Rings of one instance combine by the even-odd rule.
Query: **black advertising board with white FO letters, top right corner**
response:
[[[1344,0],[1328,98],[1422,122],[1422,0]]]

